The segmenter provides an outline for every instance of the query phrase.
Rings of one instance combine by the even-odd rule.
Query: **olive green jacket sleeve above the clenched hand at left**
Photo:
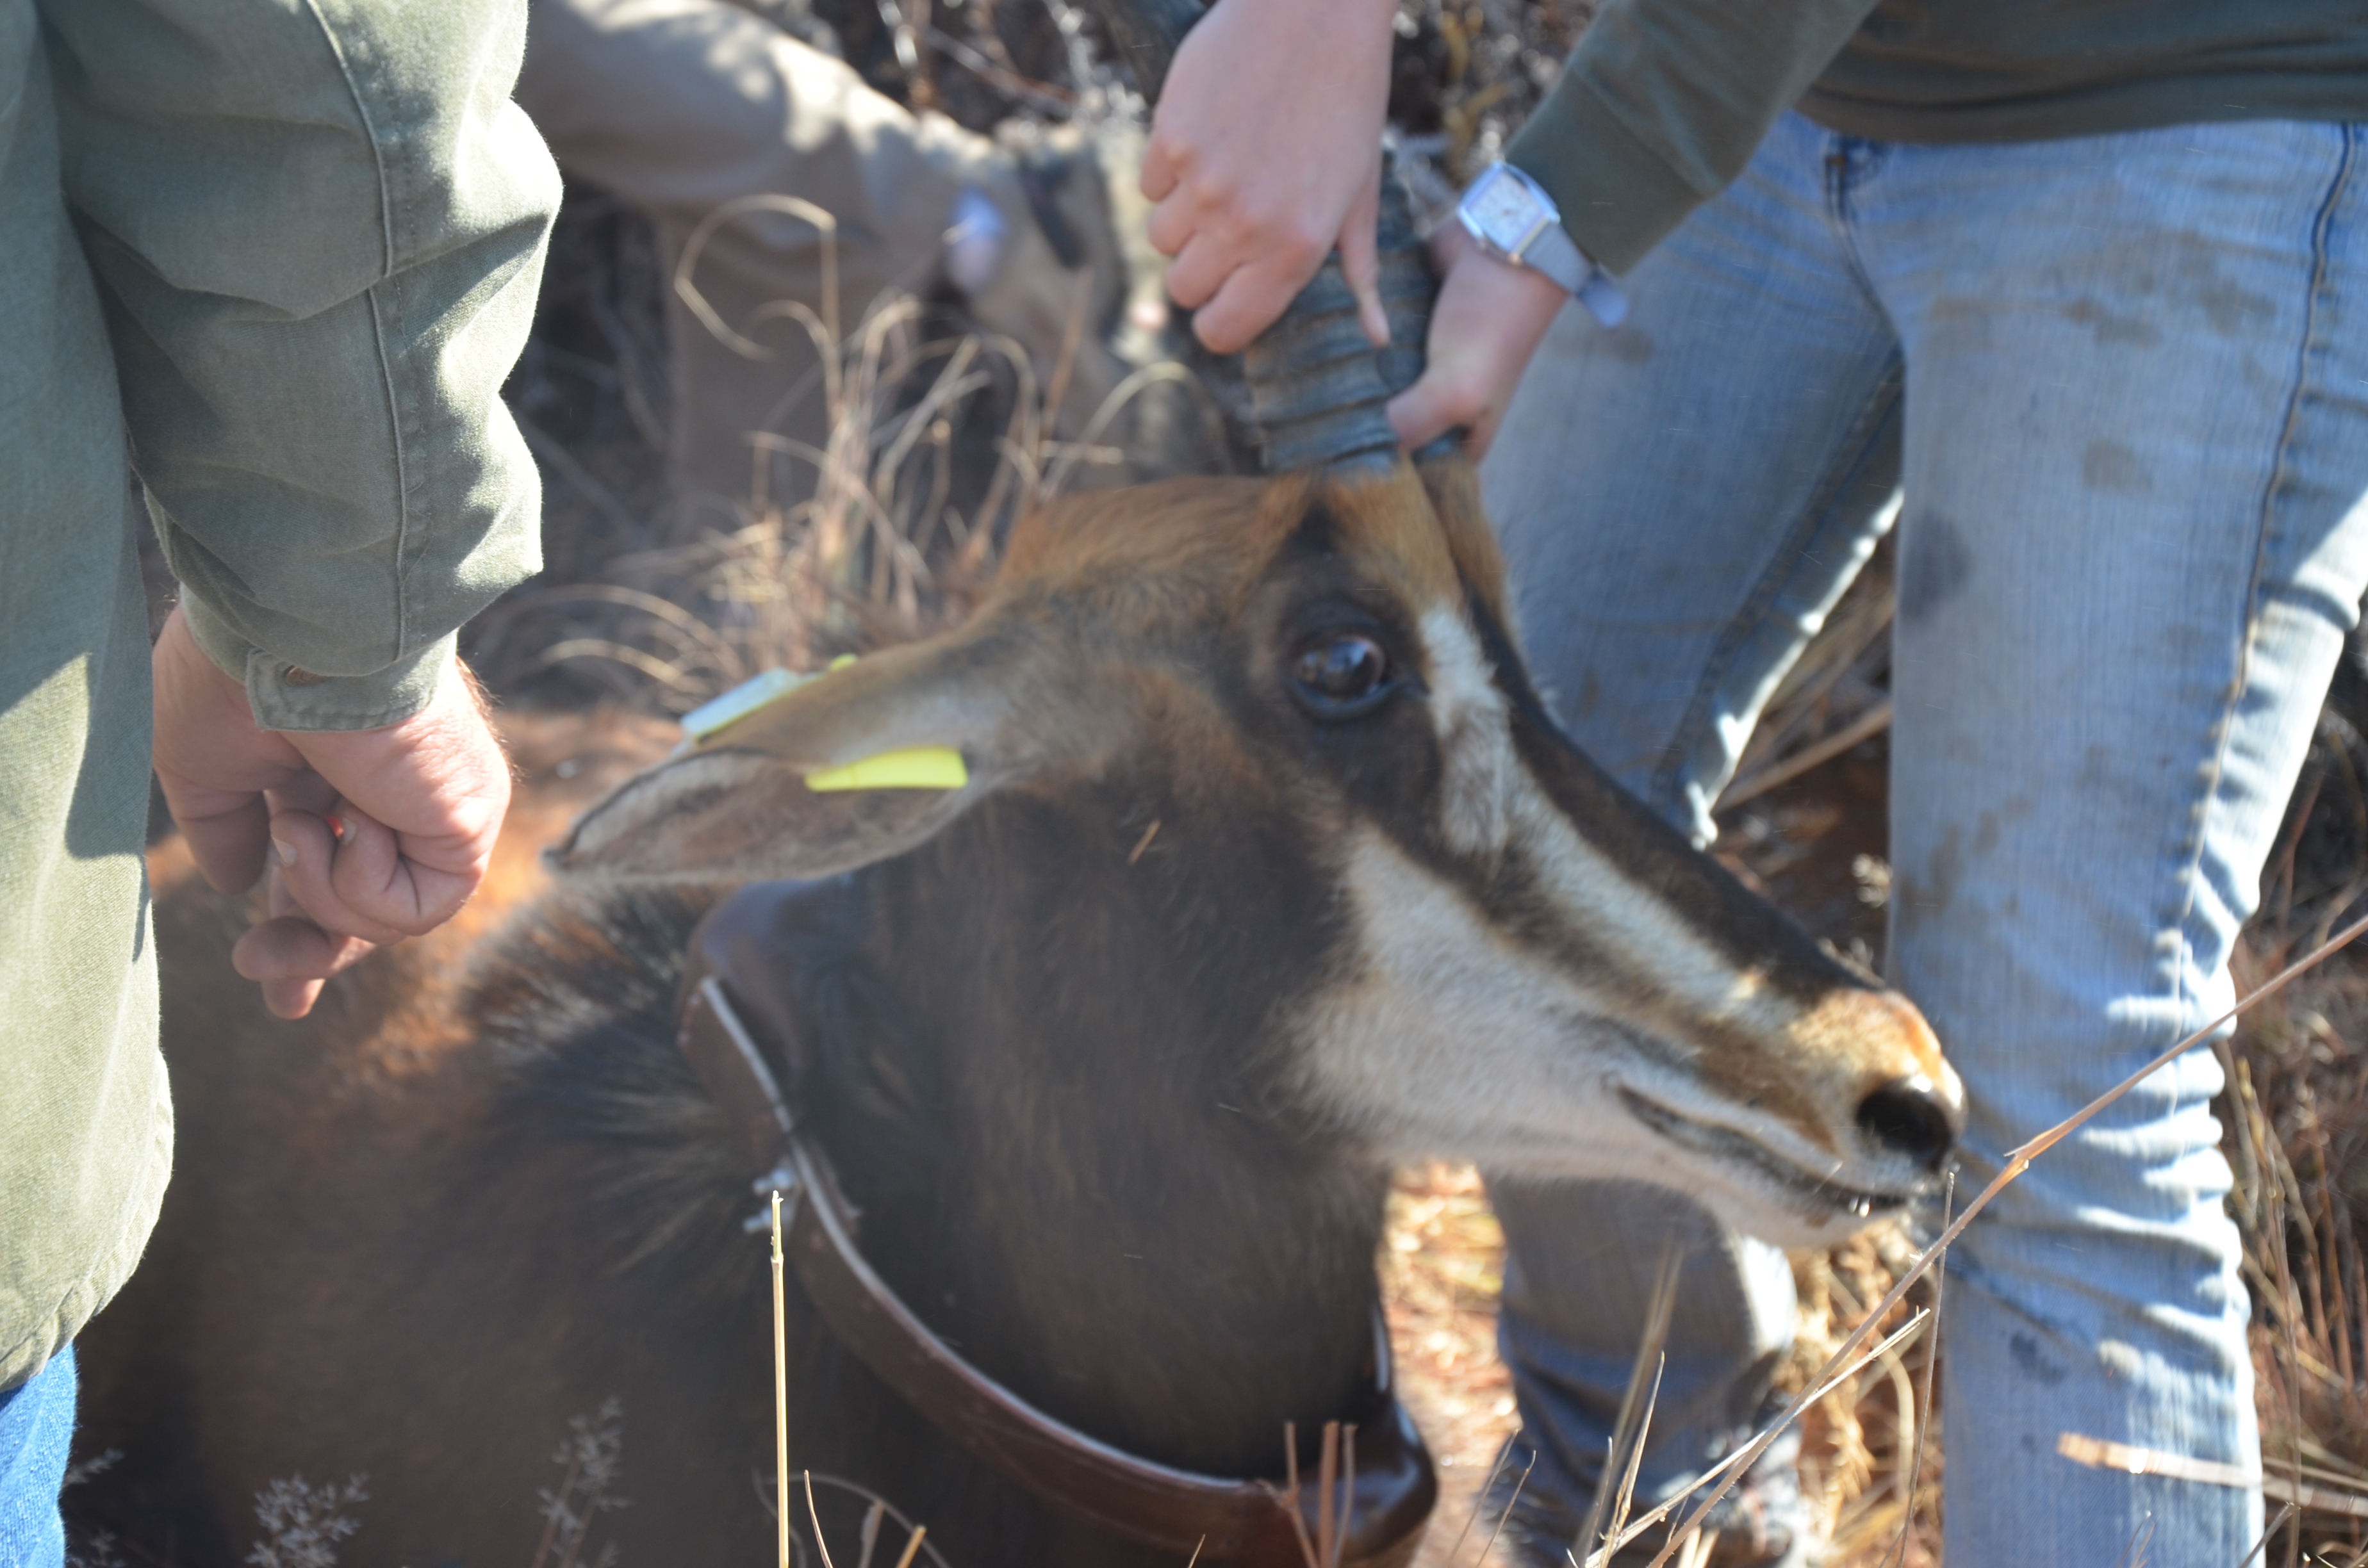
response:
[[[275,730],[419,711],[538,568],[500,400],[559,175],[521,0],[54,0],[62,187],[199,647]]]

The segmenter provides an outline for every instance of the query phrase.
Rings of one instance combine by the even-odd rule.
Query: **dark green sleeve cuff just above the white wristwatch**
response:
[[[1504,161],[1546,187],[1563,227],[1606,272],[1634,268],[1717,194],[1693,189],[1582,71],[1563,73]]]

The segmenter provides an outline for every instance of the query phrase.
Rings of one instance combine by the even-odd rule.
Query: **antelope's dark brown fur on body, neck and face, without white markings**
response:
[[[1643,834],[1636,860],[1695,879],[1714,940],[1857,983],[1563,756],[1504,642],[1468,495],[1442,507],[1444,550],[1428,507],[1333,516],[1293,483],[1096,500],[1014,542],[987,635],[1070,649],[1016,722],[1099,682],[1125,744],[829,883],[822,936],[781,955],[815,1028],[800,1099],[867,1255],[980,1369],[1141,1457],[1269,1476],[1286,1421],[1366,1414],[1383,1184],[1293,1094],[1283,1021],[1350,962],[1352,827],[1454,860],[1423,711],[1312,725],[1265,675],[1293,628],[1350,613],[1404,647],[1407,604],[1468,599],[1563,810]],[[834,680],[860,694],[907,666]],[[180,1177],[88,1336],[85,1440],[128,1454],[107,1502],[187,1568],[237,1561],[268,1480],[355,1471],[372,1497],[341,1561],[528,1568],[552,1450],[609,1397],[632,1506],[597,1540],[628,1568],[772,1551],[765,1244],[670,1033],[713,893],[538,893],[530,853],[651,737],[514,734],[526,786],[488,898],[334,983],[305,1023],[265,1018],[230,976],[246,907],[159,865]],[[561,784],[564,753],[594,765]],[[883,1492],[957,1568],[1175,1568],[983,1471],[798,1300],[791,1341],[796,1461]]]

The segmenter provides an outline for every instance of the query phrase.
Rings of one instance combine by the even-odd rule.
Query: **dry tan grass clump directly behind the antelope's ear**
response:
[[[770,358],[744,336],[748,322],[722,320],[696,287],[706,242],[755,211],[812,225],[831,277],[831,213],[796,197],[748,197],[691,232],[673,291],[725,348]],[[618,265],[590,249],[583,265]],[[1075,308],[1087,303],[1080,289]],[[618,313],[594,315],[606,322]],[[528,424],[559,505],[547,533],[594,526],[639,547],[583,559],[554,545],[549,554],[573,571],[545,573],[471,625],[469,656],[490,687],[547,699],[545,677],[566,670],[573,689],[564,687],[561,701],[687,713],[767,668],[812,670],[959,621],[992,578],[1011,523],[1070,488],[1196,471],[1224,455],[1222,415],[1189,369],[1158,358],[1137,365],[1075,438],[1058,436],[1044,410],[1061,405],[1082,315],[1044,384],[1016,341],[957,332],[942,310],[900,291],[862,301],[852,322],[841,320],[836,289],[815,303],[774,301],[758,317],[796,322],[822,360],[824,445],[746,436],[755,452],[810,471],[812,495],[770,495],[774,464],[753,462],[755,486],[739,505],[670,509],[646,471],[632,483],[649,464],[637,469],[616,452],[649,445],[651,417],[609,422],[592,450]],[[618,343],[609,377],[630,412],[654,400],[628,396],[628,360],[646,351],[632,351],[628,336]],[[1153,388],[1172,391],[1146,405]]]

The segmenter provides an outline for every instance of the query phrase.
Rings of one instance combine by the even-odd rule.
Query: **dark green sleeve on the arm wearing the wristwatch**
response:
[[[1613,272],[1743,173],[1875,0],[1610,0],[1506,149]]]

